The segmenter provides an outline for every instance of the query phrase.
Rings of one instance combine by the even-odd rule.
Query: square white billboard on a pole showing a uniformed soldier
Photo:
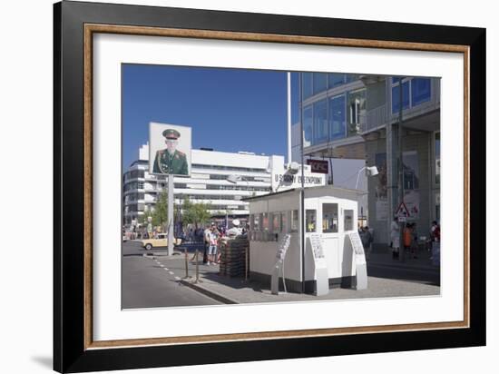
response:
[[[150,123],[149,144],[151,174],[191,174],[191,127]]]

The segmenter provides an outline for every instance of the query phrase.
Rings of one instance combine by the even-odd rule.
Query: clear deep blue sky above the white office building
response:
[[[291,76],[298,122],[298,74]],[[191,126],[192,148],[287,154],[286,72],[122,65],[122,166],[136,160],[150,122]]]

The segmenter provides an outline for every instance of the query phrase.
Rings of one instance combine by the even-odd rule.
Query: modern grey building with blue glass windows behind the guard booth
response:
[[[389,225],[399,204],[401,88],[404,202],[409,221],[424,236],[431,221],[440,219],[440,79],[301,74],[305,157],[357,159],[377,166],[377,177],[368,179],[367,224],[379,246],[389,243]],[[297,135],[293,133],[295,144]]]

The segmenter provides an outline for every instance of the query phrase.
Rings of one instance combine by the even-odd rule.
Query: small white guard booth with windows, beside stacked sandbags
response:
[[[250,279],[273,281],[273,292],[276,284],[279,290],[316,295],[335,286],[367,288],[365,255],[362,245],[358,248],[358,197],[357,190],[331,185],[305,188],[303,222],[300,189],[245,199]],[[305,229],[304,257],[300,225]]]

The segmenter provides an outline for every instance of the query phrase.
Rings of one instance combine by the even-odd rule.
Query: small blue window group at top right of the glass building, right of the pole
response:
[[[431,99],[430,78],[402,80],[402,109],[412,108]],[[400,78],[392,78],[392,113],[400,110]]]

